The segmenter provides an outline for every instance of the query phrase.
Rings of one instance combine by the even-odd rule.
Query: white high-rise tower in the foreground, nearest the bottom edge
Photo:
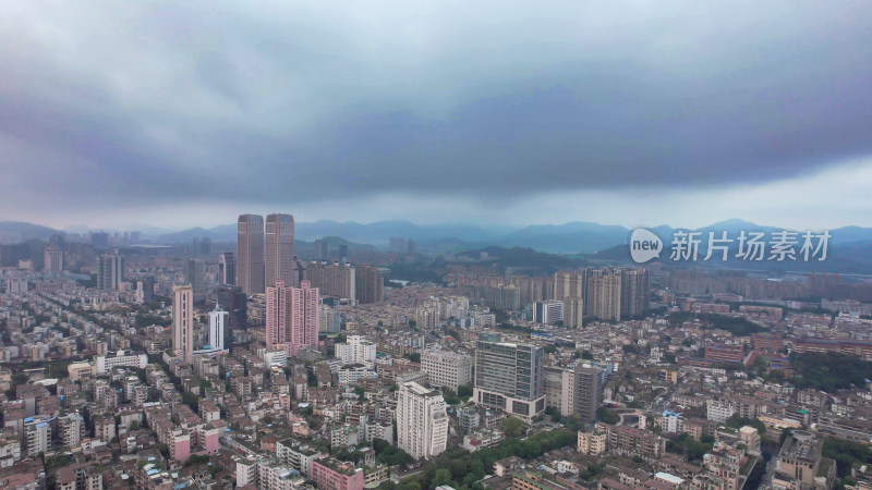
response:
[[[448,443],[448,414],[438,390],[414,381],[397,395],[397,446],[415,460],[441,454]]]

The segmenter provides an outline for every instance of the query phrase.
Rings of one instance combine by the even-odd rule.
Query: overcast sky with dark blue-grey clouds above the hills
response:
[[[8,1],[0,220],[872,225],[872,2]]]

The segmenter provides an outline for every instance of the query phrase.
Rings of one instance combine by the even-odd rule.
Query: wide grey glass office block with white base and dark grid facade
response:
[[[542,347],[510,344],[499,335],[482,335],[475,350],[472,400],[524,420],[545,412]]]

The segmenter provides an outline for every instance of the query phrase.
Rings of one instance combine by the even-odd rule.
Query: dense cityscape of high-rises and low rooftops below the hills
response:
[[[0,236],[5,487],[872,487],[872,282],[237,229]]]

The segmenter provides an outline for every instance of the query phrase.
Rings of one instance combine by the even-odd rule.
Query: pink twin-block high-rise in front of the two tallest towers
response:
[[[284,347],[289,356],[318,344],[318,289],[303,281],[286,286],[279,279],[266,289],[266,348]]]

